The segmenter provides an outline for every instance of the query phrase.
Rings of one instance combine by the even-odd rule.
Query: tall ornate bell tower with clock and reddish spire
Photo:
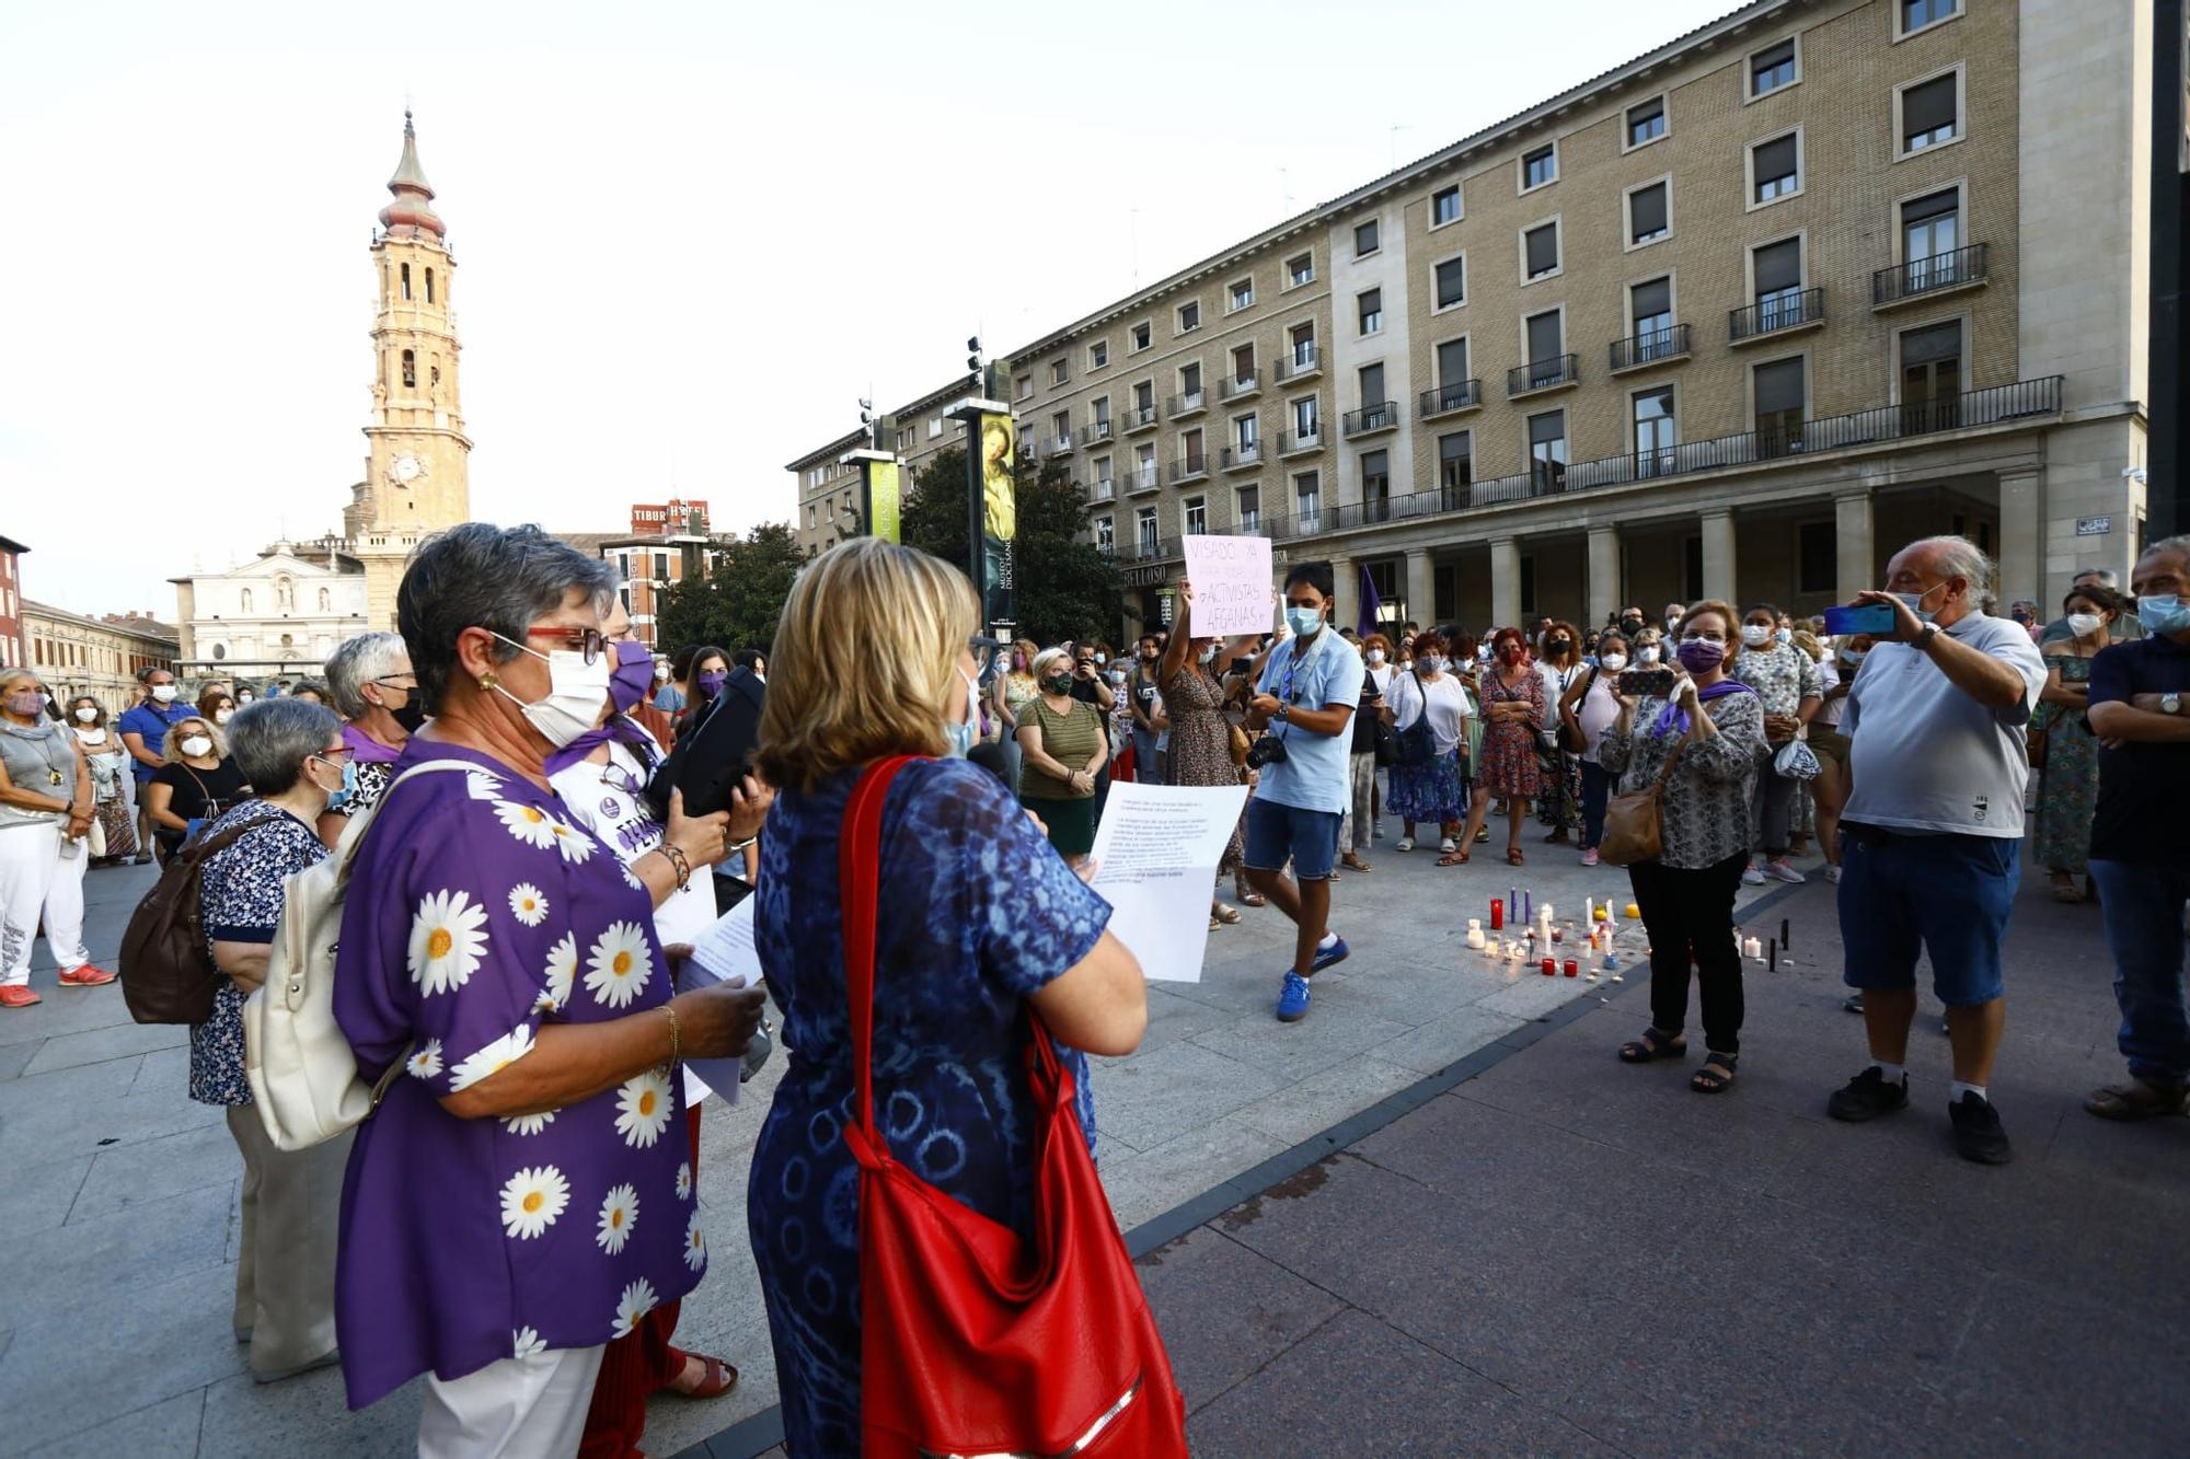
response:
[[[366,567],[366,618],[392,629],[396,585],[418,539],[471,517],[464,399],[458,388],[456,259],[418,166],[418,134],[403,112],[394,199],[372,232],[379,287],[372,313],[372,414],[366,480],[350,489],[344,537]]]

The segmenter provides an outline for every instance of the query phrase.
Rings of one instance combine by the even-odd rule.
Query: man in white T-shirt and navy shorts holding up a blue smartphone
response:
[[[1980,611],[1993,563],[1969,539],[1925,537],[1886,572],[1886,591],[1862,591],[1855,607],[1892,624],[1875,633],[1840,716],[1853,776],[1840,815],[1842,979],[1864,995],[1870,1062],[1826,1113],[1864,1122],[1910,1102],[1916,957],[1927,953],[1953,1043],[1953,1146],[2004,1165],[2013,1150],[1986,1084],[2006,1027],[1999,949],[2021,861],[2024,725],[2045,662],[2021,627]]]

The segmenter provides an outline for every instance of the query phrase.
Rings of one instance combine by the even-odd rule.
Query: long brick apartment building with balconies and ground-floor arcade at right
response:
[[[1161,618],[1257,532],[1393,618],[2002,602],[2144,524],[2140,0],[1761,0],[1012,355]]]

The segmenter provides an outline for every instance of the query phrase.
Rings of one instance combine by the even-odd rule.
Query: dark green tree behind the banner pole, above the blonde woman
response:
[[[1064,462],[1016,473],[1018,631],[1038,644],[1115,633],[1123,616],[1123,578],[1117,563],[1086,539],[1088,506]],[[966,565],[966,451],[937,451],[900,515],[907,545]]]

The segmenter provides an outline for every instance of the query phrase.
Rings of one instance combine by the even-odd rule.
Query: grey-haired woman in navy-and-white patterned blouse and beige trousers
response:
[[[252,1378],[274,1382],[335,1360],[335,1211],[350,1139],[274,1148],[243,1078],[243,999],[265,981],[287,878],[326,857],[318,822],[350,749],[335,712],[302,699],[254,699],[226,727],[258,797],[199,832],[197,911],[223,977],[212,1016],[191,1030],[191,1098],[226,1111],[243,1154],[234,1328],[252,1345]]]

